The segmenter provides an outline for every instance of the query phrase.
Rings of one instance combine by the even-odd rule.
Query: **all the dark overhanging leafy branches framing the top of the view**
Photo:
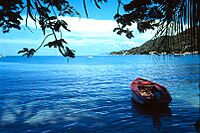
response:
[[[155,38],[191,29],[193,36],[190,47],[200,53],[200,33],[197,32],[200,31],[199,0],[130,0],[129,3],[123,3],[121,0],[116,1],[118,7],[116,7],[114,18],[118,27],[113,31],[117,34],[125,33],[128,38],[134,37],[131,29],[131,25],[134,23],[137,24],[139,32],[157,29]],[[82,2],[85,14],[88,16],[86,0],[82,0]],[[107,0],[93,0],[93,2],[94,6],[100,8],[99,3],[107,2]],[[124,10],[123,14],[120,13],[121,8]],[[26,18],[22,18],[22,14],[26,14]],[[24,48],[18,52],[27,57],[32,56],[42,46],[57,48],[64,57],[75,56],[74,51],[66,46],[67,42],[62,38],[61,28],[69,32],[70,29],[68,29],[67,22],[60,20],[59,16],[67,15],[80,16],[80,13],[70,5],[68,0],[1,0],[0,2],[0,27],[2,27],[3,33],[9,32],[11,28],[20,30],[23,19],[25,19],[28,28],[28,18],[31,18],[36,25],[40,25],[45,35],[44,41],[38,48]],[[46,35],[47,29],[51,30],[48,35]],[[54,40],[44,44],[49,36],[54,36]],[[197,36],[197,40],[194,39],[195,36]]]

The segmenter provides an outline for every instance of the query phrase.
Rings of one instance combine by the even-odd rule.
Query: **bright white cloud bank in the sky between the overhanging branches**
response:
[[[124,35],[117,35],[113,32],[113,29],[117,27],[117,23],[114,20],[95,20],[95,19],[78,19],[78,18],[70,18],[70,17],[62,17],[61,19],[65,20],[69,24],[69,29],[72,31],[71,34],[78,39],[88,39],[94,40],[113,40],[113,42],[121,41],[124,42],[134,42],[135,40],[139,42],[144,42],[151,39],[155,33],[155,31],[147,31],[144,34],[139,34],[136,29],[136,25],[134,24],[131,28],[134,31],[135,38],[128,39]],[[66,37],[69,34],[65,34]]]

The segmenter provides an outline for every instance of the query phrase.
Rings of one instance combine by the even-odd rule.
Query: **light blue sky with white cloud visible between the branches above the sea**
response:
[[[117,0],[108,0],[101,4],[101,9],[97,9],[90,0],[87,2],[89,18],[85,18],[82,0],[79,2],[69,0],[80,13],[79,17],[60,17],[68,23],[71,32],[63,30],[63,38],[68,42],[68,47],[75,50],[76,55],[108,55],[112,51],[120,51],[137,47],[151,39],[155,31],[147,31],[143,34],[138,33],[136,25],[133,25],[134,38],[128,39],[125,35],[117,35],[113,29],[117,23],[113,19],[116,13]],[[25,15],[23,16],[25,20]],[[24,47],[37,48],[43,41],[44,35],[39,26],[36,28],[33,21],[28,22],[31,29],[25,27],[22,22],[22,29],[12,29],[9,33],[0,32],[0,54],[18,55],[17,52]],[[47,31],[48,33],[48,31]],[[53,38],[48,38],[53,41]],[[36,55],[60,55],[57,49],[41,48]]]

